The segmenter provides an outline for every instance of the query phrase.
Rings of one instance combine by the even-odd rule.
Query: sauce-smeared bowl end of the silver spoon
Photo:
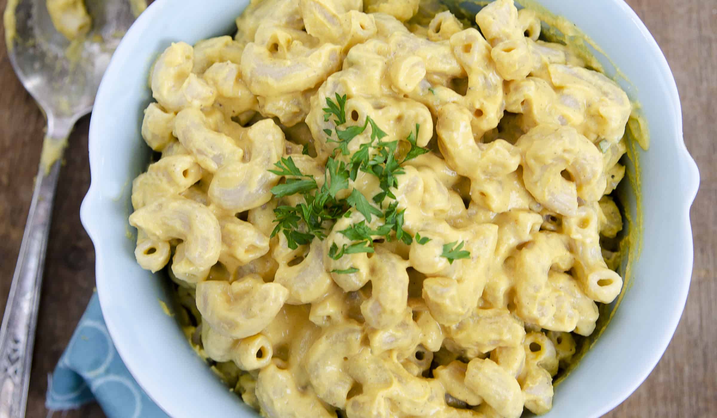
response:
[[[14,18],[14,30],[6,29],[10,62],[49,125],[62,120],[62,128],[71,129],[92,110],[112,53],[135,18],[127,1],[92,0],[86,6],[92,28],[72,41],[54,29],[43,0],[11,0],[5,12],[6,20]],[[48,134],[63,133],[59,128]]]

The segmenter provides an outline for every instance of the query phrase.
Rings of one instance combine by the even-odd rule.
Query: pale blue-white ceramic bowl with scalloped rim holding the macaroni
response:
[[[555,391],[545,417],[599,417],[650,374],[667,348],[690,285],[693,247],[689,209],[697,167],[682,136],[675,80],[655,39],[622,0],[542,0],[607,52],[642,103],[652,133],[640,152],[644,247],[630,288],[612,322]],[[149,396],[173,417],[255,417],[189,348],[174,318],[161,309],[166,280],[142,270],[126,237],[130,189],[146,168],[140,128],[151,101],[148,70],[171,42],[232,33],[247,0],[157,0],[125,35],[103,78],[90,123],[92,184],[82,224],[95,243],[97,288],[120,356]],[[625,204],[635,212],[635,196]],[[660,402],[660,399],[655,399]]]

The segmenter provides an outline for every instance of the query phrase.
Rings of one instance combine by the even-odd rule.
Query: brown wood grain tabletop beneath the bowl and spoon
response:
[[[0,0],[0,9],[5,8]],[[627,0],[677,80],[685,143],[701,171],[692,208],[695,267],[672,343],[650,377],[607,417],[717,417],[717,0]],[[4,37],[2,38],[4,39]],[[32,198],[44,119],[0,45],[0,308],[5,305]],[[90,185],[89,118],[77,123],[60,174],[47,250],[27,417],[103,417],[97,404],[48,414],[47,376],[95,286],[92,242],[80,224]],[[666,219],[669,222],[669,219]]]

